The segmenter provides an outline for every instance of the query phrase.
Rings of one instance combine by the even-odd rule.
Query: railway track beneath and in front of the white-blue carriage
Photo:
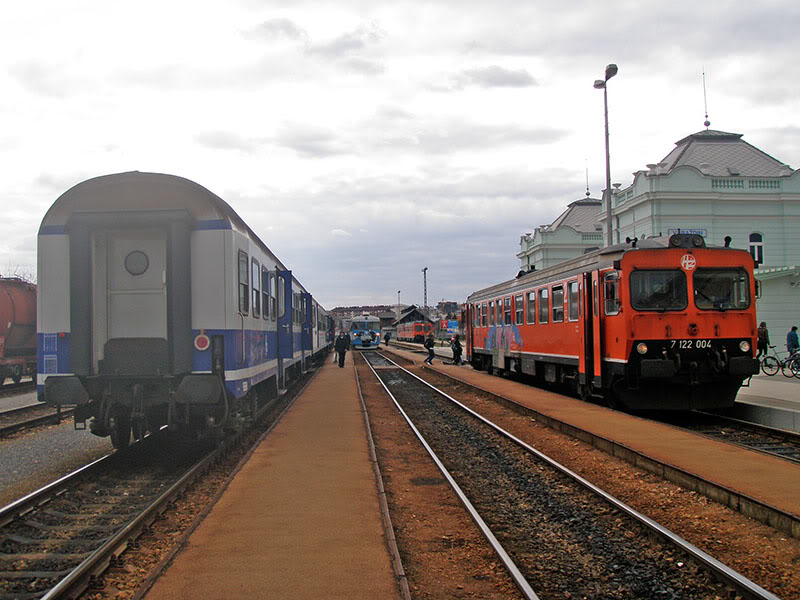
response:
[[[247,455],[307,381],[263,406],[253,426],[213,447],[151,435],[0,509],[0,600],[76,598],[98,585],[199,477],[220,463],[228,468],[231,455],[236,461]]]

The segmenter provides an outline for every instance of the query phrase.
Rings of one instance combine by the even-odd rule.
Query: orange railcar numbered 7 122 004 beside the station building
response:
[[[732,406],[758,373],[755,336],[752,257],[699,235],[618,244],[467,299],[473,367],[632,409]]]

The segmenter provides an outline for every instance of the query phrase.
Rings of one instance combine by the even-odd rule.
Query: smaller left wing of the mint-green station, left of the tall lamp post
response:
[[[600,200],[594,198],[570,202],[555,221],[521,236],[517,254],[520,270],[541,271],[602,247],[603,232],[597,220],[600,206]]]

